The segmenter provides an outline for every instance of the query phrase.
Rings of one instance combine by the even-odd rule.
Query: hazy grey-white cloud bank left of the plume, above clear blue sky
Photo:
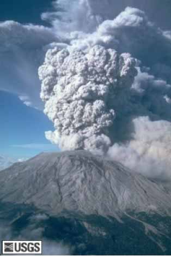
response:
[[[27,106],[42,109],[37,70],[46,52],[44,47],[54,40],[57,38],[50,28],[1,22],[0,90],[15,93]]]

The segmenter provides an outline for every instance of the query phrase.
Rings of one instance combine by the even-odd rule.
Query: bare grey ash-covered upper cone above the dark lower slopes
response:
[[[41,153],[0,174],[3,202],[119,218],[126,210],[171,215],[167,190],[87,151]]]

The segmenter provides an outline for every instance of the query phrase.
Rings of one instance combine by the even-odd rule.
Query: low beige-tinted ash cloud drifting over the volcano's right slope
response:
[[[109,148],[109,156],[145,176],[170,179],[171,123],[151,122],[149,117],[132,122],[132,139],[125,144],[115,143]]]

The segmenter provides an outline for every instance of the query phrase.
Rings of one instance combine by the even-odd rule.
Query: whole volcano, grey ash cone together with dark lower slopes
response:
[[[63,243],[76,255],[171,253],[169,189],[117,162],[41,153],[0,180],[0,221],[12,237]]]

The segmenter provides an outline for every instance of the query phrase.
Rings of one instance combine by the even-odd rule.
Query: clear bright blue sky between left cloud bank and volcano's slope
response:
[[[30,157],[42,151],[57,150],[45,139],[45,130],[53,129],[43,112],[29,108],[21,100],[0,91],[0,154],[10,157]]]

